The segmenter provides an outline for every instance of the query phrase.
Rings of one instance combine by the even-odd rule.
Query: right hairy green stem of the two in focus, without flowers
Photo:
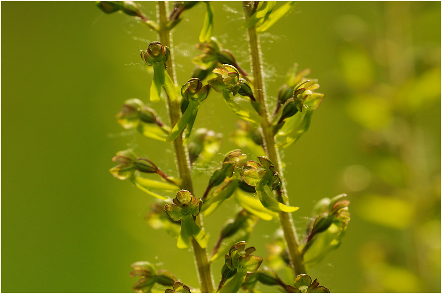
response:
[[[253,1],[243,1],[243,7],[247,18],[249,16],[250,10],[253,9]],[[250,60],[252,65],[254,95],[256,101],[262,104],[260,115],[264,118],[263,122],[261,123],[264,147],[266,149],[267,156],[269,157],[273,165],[275,165],[275,170],[279,173],[279,176],[281,178],[281,190],[280,193],[278,193],[278,201],[289,205],[285,178],[283,170],[281,168],[281,159],[279,156],[278,148],[275,144],[273,128],[269,121],[269,115],[267,111],[266,92],[264,88],[261,63],[261,52],[255,26],[252,26],[248,29],[248,37],[250,47]],[[295,276],[299,274],[306,274],[306,267],[304,265],[302,254],[299,251],[298,237],[296,235],[296,228],[293,225],[291,214],[282,211],[279,212],[279,221],[284,231],[284,237],[287,242],[287,248],[291,262],[293,264]]]

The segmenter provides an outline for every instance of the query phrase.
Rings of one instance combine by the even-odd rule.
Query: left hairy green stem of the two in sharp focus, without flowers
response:
[[[167,15],[168,9],[165,1],[157,2],[157,12],[159,19],[159,32],[158,37],[160,42],[168,46],[171,50],[171,56],[166,62],[167,73],[171,76],[173,83],[176,85],[176,76],[174,71],[174,62],[173,62],[173,46],[172,46],[172,37],[171,32],[167,28]],[[169,110],[169,117],[171,120],[172,126],[174,126],[181,115],[179,99],[175,99],[171,101],[169,97],[167,97],[167,106]],[[193,193],[193,184],[192,184],[192,174],[190,169],[189,162],[189,153],[187,149],[183,146],[183,138],[182,136],[178,136],[175,140],[173,140],[173,147],[175,149],[176,155],[176,165],[178,168],[179,176],[183,181],[181,188],[186,189]],[[203,228],[203,220],[202,216],[199,215],[195,220],[196,224]],[[198,272],[198,277],[201,285],[201,291],[203,293],[212,293],[213,292],[213,279],[211,276],[210,263],[207,259],[206,249],[201,248],[199,244],[192,238],[192,246],[193,253],[195,257],[195,264]]]

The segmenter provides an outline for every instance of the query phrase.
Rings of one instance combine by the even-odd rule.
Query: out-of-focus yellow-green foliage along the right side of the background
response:
[[[359,198],[356,217],[400,232],[407,244],[378,239],[361,246],[367,292],[440,291],[440,140],[431,140],[422,123],[441,107],[440,38],[423,45],[415,31],[431,13],[428,6],[382,3],[378,32],[355,15],[339,23],[342,94],[348,115],[363,128],[361,151],[369,159],[349,167],[344,181]]]

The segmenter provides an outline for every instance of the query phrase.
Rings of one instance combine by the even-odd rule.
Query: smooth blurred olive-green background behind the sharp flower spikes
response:
[[[154,2],[141,5],[154,19]],[[214,36],[250,69],[241,3],[212,7]],[[108,171],[116,151],[133,147],[175,174],[168,145],[114,119],[124,100],[148,102],[139,50],[154,33],[94,2],[1,8],[1,291],[131,292],[138,260],[197,285],[192,253],[143,221],[154,200]],[[196,5],[174,30],[180,83],[199,54],[204,11]],[[261,37],[269,97],[295,62],[326,94],[283,160],[298,233],[319,199],[351,201],[342,246],[309,269],[332,292],[441,291],[440,28],[440,2],[299,2]],[[221,153],[234,148],[236,117],[221,97],[210,94],[199,113],[196,127],[224,133]],[[229,203],[205,220],[210,247]],[[259,222],[249,240],[257,255],[276,227]]]

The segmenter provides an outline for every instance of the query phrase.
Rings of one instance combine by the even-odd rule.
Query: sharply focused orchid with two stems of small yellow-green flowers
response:
[[[239,4],[240,2],[238,2]],[[166,175],[152,159],[138,157],[132,150],[122,150],[112,159],[117,165],[111,173],[119,180],[129,180],[136,187],[156,198],[146,221],[154,229],[164,229],[176,239],[178,248],[192,248],[199,285],[188,285],[165,270],[157,270],[147,261],[132,264],[131,276],[139,280],[133,289],[138,293],[155,292],[167,287],[166,293],[236,293],[256,292],[259,283],[289,293],[328,293],[318,280],[307,276],[307,268],[321,261],[337,248],[350,220],[346,195],[320,200],[315,206],[306,234],[299,238],[291,213],[299,207],[288,202],[280,152],[290,147],[309,128],[312,113],[324,99],[317,92],[318,81],[308,78],[309,70],[298,71],[294,66],[279,90],[276,107],[269,108],[264,88],[259,34],[266,32],[278,19],[288,15],[295,6],[288,1],[276,8],[276,1],[243,1],[243,28],[248,35],[250,73],[245,72],[231,51],[212,36],[214,11],[206,7],[196,48],[202,51],[192,61],[190,79],[180,84],[174,74],[173,30],[185,11],[199,5],[198,1],[157,2],[157,20],[151,20],[132,1],[97,1],[105,13],[122,12],[158,34],[146,50],[140,52],[146,66],[153,68],[150,102],[129,99],[116,115],[124,129],[135,129],[149,140],[170,142],[173,146],[177,177]],[[211,89],[213,91],[211,91]],[[219,95],[226,106],[238,116],[239,128],[231,135],[238,149],[227,152],[222,162],[210,174],[202,195],[194,194],[192,172],[213,162],[221,149],[221,135],[209,129],[194,129],[198,109],[210,96]],[[165,102],[169,119],[161,119],[151,108]],[[247,150],[243,152],[242,149]],[[173,161],[173,158],[170,159]],[[156,174],[151,179],[148,174]],[[202,218],[209,218],[223,202],[234,201],[240,209],[236,216],[222,226],[219,238],[209,249],[209,234]],[[235,204],[236,206],[236,204]],[[278,219],[280,234],[269,246],[266,260],[253,255],[248,247],[258,220]],[[265,253],[258,253],[265,255]],[[215,287],[211,265],[224,257],[218,270]],[[268,264],[268,267],[263,266]],[[286,282],[277,274],[285,267],[293,273],[294,281]]]

